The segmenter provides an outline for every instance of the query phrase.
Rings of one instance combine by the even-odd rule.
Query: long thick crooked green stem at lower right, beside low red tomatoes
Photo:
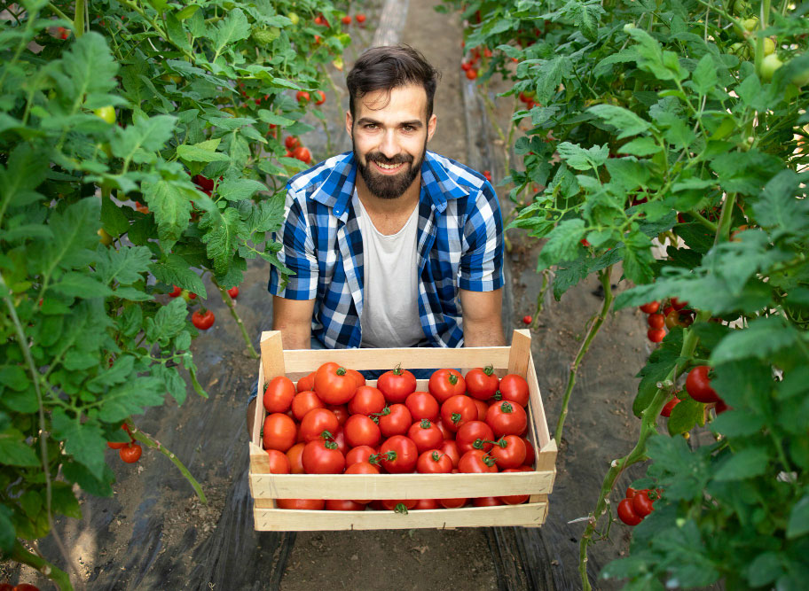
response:
[[[697,314],[696,322],[705,322],[711,317],[710,312],[701,311]],[[687,366],[688,360],[694,354],[696,345],[699,338],[696,336],[694,330],[686,329],[683,338],[682,348],[680,349],[678,362],[665,379],[660,383],[655,398],[649,403],[648,407],[640,413],[640,437],[632,451],[624,457],[613,460],[610,463],[610,468],[607,475],[604,477],[604,482],[601,484],[601,493],[599,494],[598,501],[595,504],[595,509],[590,514],[587,522],[585,533],[579,541],[578,547],[578,573],[582,580],[582,589],[584,591],[592,591],[590,581],[587,579],[587,546],[593,543],[593,533],[595,532],[595,525],[599,518],[607,512],[607,498],[612,491],[613,486],[625,469],[632,466],[634,463],[643,462],[647,459],[647,441],[657,433],[657,416],[663,410],[665,403],[669,400],[672,393],[672,387],[683,368]]]

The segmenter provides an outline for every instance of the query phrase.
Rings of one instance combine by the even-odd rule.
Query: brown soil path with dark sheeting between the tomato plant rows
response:
[[[429,149],[489,169],[496,185],[505,175],[503,144],[491,121],[507,126],[508,101],[486,113],[475,83],[462,77],[462,27],[456,14],[433,10],[434,1],[411,0],[400,40],[423,51],[443,74],[436,93],[436,136]],[[332,71],[340,101],[330,94],[327,134],[312,118],[313,131],[303,143],[313,153],[350,149],[343,127],[348,106],[343,77],[356,56],[372,43],[382,3],[366,3],[369,27],[357,31],[344,72]],[[395,31],[396,32],[396,31]],[[502,89],[505,89],[504,86]],[[492,85],[489,96],[502,89]],[[512,162],[514,156],[512,155]],[[498,189],[504,216],[513,204],[507,189]],[[508,230],[507,289],[504,325],[507,334],[523,328],[522,316],[535,315],[531,350],[551,432],[562,408],[569,365],[575,358],[588,320],[601,307],[599,285],[591,280],[554,301],[547,292],[538,311],[542,276],[535,272],[541,245],[519,231]],[[240,286],[239,314],[258,347],[261,331],[271,329],[268,269],[252,261]],[[616,290],[627,285],[620,270]],[[577,589],[578,539],[583,518],[593,509],[611,459],[624,455],[636,439],[638,422],[631,416],[637,388],[634,375],[650,351],[639,312],[611,315],[578,372],[557,461],[554,492],[546,524],[538,529],[462,528],[381,532],[256,533],[247,486],[247,393],[255,383],[258,362],[245,353],[244,341],[216,290],[207,283],[207,306],[216,324],[193,345],[194,362],[208,400],[189,388],[182,406],[170,400],[135,423],[169,447],[191,470],[208,496],[201,503],[169,459],[153,450],[135,465],[109,463],[117,483],[112,498],[82,499],[83,517],[64,520],[57,531],[77,566],[76,587],[92,589],[270,589],[298,591],[312,587],[346,589]],[[633,471],[636,478],[640,470]],[[633,478],[624,474],[617,490]],[[618,494],[613,494],[617,502]],[[617,588],[596,580],[609,560],[624,554],[629,528],[615,524],[610,539],[590,551],[588,576],[593,586]],[[60,567],[66,561],[51,539],[40,545]],[[31,569],[0,564],[12,580],[52,588]]]

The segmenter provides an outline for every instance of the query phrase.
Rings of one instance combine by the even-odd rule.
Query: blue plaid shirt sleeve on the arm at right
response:
[[[497,193],[486,182],[470,196],[464,226],[458,286],[468,292],[493,292],[505,284],[503,274],[503,219]]]

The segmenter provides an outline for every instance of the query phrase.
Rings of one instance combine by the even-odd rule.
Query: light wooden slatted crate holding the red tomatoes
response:
[[[459,349],[328,349],[291,350],[281,346],[279,331],[263,332],[258,392],[273,377],[286,375],[296,381],[325,362],[350,369],[468,368],[494,366],[525,377],[530,388],[528,437],[537,459],[534,471],[494,474],[271,474],[262,449],[261,428],[266,411],[261,395],[255,405],[250,441],[250,493],[255,501],[258,531],[411,529],[416,527],[479,527],[522,525],[536,527],[547,517],[547,495],[556,477],[556,443],[548,432],[545,410],[530,353],[528,330],[514,330],[511,346]],[[417,390],[427,391],[426,379]],[[369,380],[368,385],[375,385]],[[384,510],[310,511],[277,509],[275,499],[441,499],[530,494],[522,505],[412,510],[407,514]]]

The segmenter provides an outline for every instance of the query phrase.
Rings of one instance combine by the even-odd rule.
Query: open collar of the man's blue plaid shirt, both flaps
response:
[[[348,209],[354,184],[357,181],[357,162],[354,152],[344,152],[336,157],[332,171],[326,180],[320,183],[312,193],[311,198],[318,203],[332,208],[334,215],[348,221]],[[427,151],[421,163],[421,196],[432,202],[432,206],[439,213],[446,209],[447,199],[466,197],[469,192],[447,175],[446,170],[438,161],[435,152]]]

